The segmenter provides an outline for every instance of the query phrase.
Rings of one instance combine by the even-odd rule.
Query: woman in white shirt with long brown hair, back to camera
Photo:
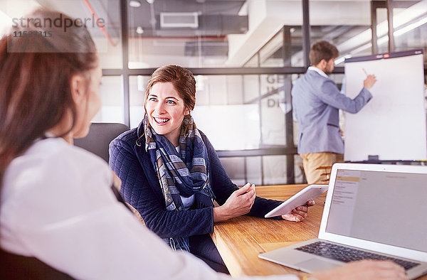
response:
[[[73,146],[100,109],[100,62],[88,31],[17,29],[52,36],[0,40],[0,279],[228,279],[142,227],[113,193],[107,164]],[[354,275],[404,279],[389,262],[314,276]]]

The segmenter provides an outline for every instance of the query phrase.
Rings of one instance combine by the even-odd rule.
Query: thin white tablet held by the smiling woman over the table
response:
[[[265,214],[265,217],[275,217],[289,214],[298,206],[305,205],[308,200],[315,199],[322,193],[325,193],[325,191],[327,191],[327,187],[328,185],[309,185],[293,195],[292,198],[289,198],[278,207]]]

